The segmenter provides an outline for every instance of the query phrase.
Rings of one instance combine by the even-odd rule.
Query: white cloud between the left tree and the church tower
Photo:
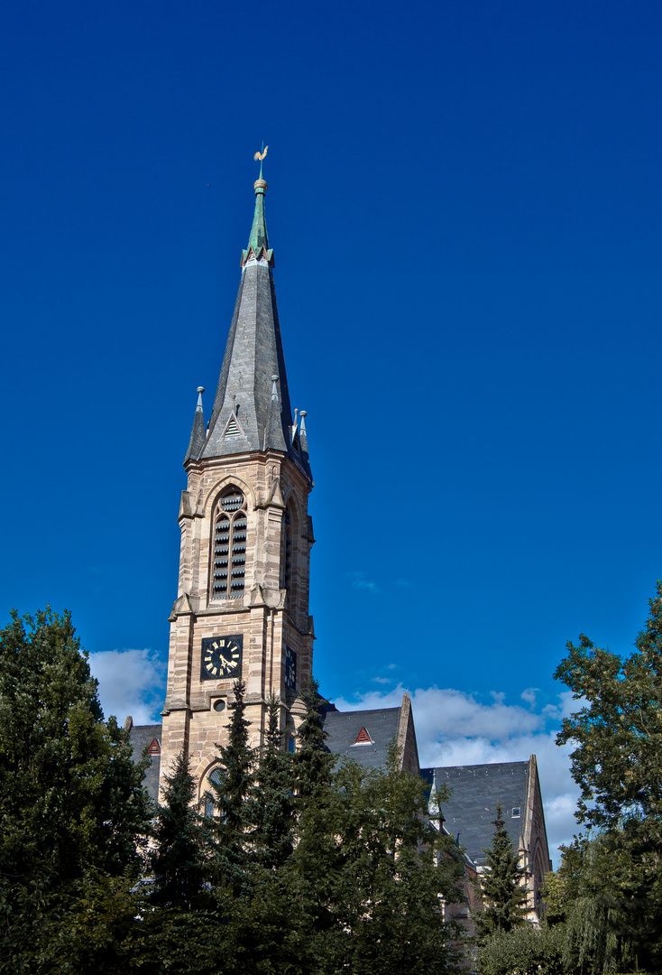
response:
[[[106,718],[123,724],[159,722],[165,698],[165,663],[155,650],[103,650],[90,654],[90,669],[99,683]]]

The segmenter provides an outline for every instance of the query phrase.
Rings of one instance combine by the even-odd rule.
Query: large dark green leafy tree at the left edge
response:
[[[103,722],[69,613],[13,612],[0,631],[0,970],[43,945],[81,884],[138,876],[143,768],[128,734]]]

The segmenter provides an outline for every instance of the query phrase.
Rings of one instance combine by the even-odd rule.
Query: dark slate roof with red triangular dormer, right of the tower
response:
[[[330,711],[324,719],[328,734],[326,744],[330,752],[357,761],[365,768],[378,768],[386,762],[388,744],[397,738],[400,708],[379,708],[376,711]],[[354,745],[361,728],[370,735],[371,742]]]

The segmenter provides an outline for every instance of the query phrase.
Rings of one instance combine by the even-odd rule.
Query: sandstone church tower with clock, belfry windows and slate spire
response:
[[[213,773],[215,743],[227,742],[234,683],[246,684],[257,745],[272,694],[282,702],[282,726],[294,734],[313,672],[306,412],[295,409],[293,417],[290,407],[262,169],[254,188],[211,416],[205,426],[199,387],[184,459],[179,586],[169,617],[162,775],[184,748],[199,798]]]

